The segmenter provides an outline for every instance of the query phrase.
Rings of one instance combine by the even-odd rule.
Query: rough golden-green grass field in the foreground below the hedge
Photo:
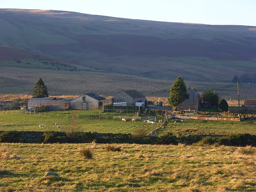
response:
[[[1,143],[0,191],[256,191],[256,148],[114,145]]]

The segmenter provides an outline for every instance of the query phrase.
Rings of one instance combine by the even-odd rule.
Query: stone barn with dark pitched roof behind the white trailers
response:
[[[124,90],[113,97],[113,103],[126,102],[127,106],[135,106],[136,103],[145,103],[147,106],[147,99],[144,95],[136,90]]]

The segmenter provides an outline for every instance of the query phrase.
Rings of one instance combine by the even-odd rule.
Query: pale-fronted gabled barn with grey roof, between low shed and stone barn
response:
[[[106,99],[95,93],[82,94],[78,98],[71,100],[71,108],[78,110],[101,109],[104,105],[111,104],[112,100]]]

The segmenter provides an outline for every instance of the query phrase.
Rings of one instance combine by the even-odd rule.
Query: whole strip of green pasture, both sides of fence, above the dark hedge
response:
[[[28,131],[45,131],[60,130],[55,123],[60,124],[62,131],[70,129],[72,124],[72,114],[74,114],[74,123],[76,130],[84,132],[100,133],[134,133],[136,130],[143,128],[151,132],[156,128],[152,124],[146,124],[141,121],[122,122],[113,120],[113,116],[135,116],[135,114],[121,113],[100,113],[100,110],[76,110],[76,111],[55,111],[43,112],[40,114],[31,113],[31,115],[19,114],[19,110],[0,112],[0,130],[28,130]],[[152,116],[152,114],[142,114],[142,116]],[[160,116],[157,121],[161,120]],[[40,128],[39,124],[44,124]],[[256,135],[256,122],[246,120],[243,122],[236,121],[207,121],[207,120],[170,120],[164,123],[163,127],[157,130],[156,134],[166,134],[172,132],[176,136],[188,134],[242,134],[249,133]]]

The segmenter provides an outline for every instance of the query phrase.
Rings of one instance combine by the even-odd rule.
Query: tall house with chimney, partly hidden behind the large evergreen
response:
[[[198,110],[200,103],[200,94],[192,90],[190,87],[187,89],[187,93],[189,94],[189,99],[178,104],[178,110]]]

